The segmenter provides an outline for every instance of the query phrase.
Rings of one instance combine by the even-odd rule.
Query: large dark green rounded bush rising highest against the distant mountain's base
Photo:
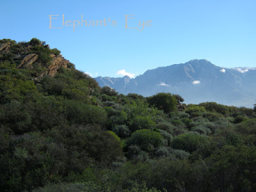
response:
[[[163,110],[164,113],[177,111],[177,99],[171,93],[157,93],[156,95],[148,98],[148,103],[151,106],[156,106],[158,109]]]

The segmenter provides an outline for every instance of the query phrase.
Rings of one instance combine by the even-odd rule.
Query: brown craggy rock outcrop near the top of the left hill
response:
[[[10,42],[4,43],[4,44],[0,44],[0,61],[1,61],[1,56],[3,56],[3,54],[6,53],[10,53],[13,54],[13,58],[15,61],[17,61],[16,63],[19,63],[19,65],[17,66],[18,68],[29,68],[29,69],[33,69],[34,68],[34,63],[38,63],[40,65],[42,65],[43,68],[46,68],[46,70],[44,70],[44,72],[42,72],[42,74],[40,74],[39,76],[54,76],[58,70],[60,70],[61,67],[63,68],[68,68],[68,63],[69,61],[66,60],[65,58],[63,58],[63,56],[61,56],[61,54],[51,54],[51,61],[49,61],[48,63],[42,63],[40,61],[40,52],[39,53],[29,53],[31,52],[31,48],[33,48],[32,45],[30,45],[29,43],[23,44],[22,45],[22,52],[18,52],[18,54],[13,54],[13,50],[12,49],[12,44]],[[44,47],[44,49],[48,49],[49,50],[49,45],[39,45]],[[16,52],[17,53],[17,52]]]

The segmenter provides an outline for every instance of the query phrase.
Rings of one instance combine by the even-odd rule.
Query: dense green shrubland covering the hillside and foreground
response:
[[[0,57],[1,191],[256,191],[255,108],[118,94],[70,64],[35,80]],[[33,39],[47,63],[60,54]],[[38,65],[36,70],[44,70]]]

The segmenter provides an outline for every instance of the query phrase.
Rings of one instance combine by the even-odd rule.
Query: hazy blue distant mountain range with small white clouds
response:
[[[128,76],[95,79],[99,86],[110,86],[119,93],[150,96],[170,92],[181,95],[186,103],[214,101],[252,108],[256,102],[256,68],[224,68],[207,60],[158,67],[134,79]]]

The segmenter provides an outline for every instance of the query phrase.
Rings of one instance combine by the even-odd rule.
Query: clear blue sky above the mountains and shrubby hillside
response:
[[[93,77],[120,77],[120,70],[139,75],[193,59],[256,67],[255,10],[255,0],[1,1],[0,38],[39,38]],[[62,14],[65,22],[83,14],[88,21],[116,20],[116,26],[80,25],[73,31],[61,26]],[[52,27],[63,28],[50,29],[49,15],[59,15]],[[128,27],[138,27],[140,20],[152,26],[125,29],[125,15],[134,15]]]

